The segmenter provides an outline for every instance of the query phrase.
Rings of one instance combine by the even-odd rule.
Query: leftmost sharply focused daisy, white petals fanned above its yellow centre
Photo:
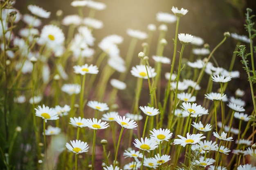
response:
[[[35,108],[36,116],[41,117],[47,122],[47,120],[57,120],[59,119],[58,113],[48,106],[43,105],[43,107],[38,106]]]

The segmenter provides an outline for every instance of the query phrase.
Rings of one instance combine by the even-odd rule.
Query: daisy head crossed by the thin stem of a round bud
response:
[[[148,70],[148,75],[147,75],[146,67]],[[136,65],[135,67],[132,67],[131,73],[135,77],[144,78],[144,79],[148,79],[148,77],[152,78],[157,75],[154,68],[151,68],[148,66],[146,67],[145,65]]]

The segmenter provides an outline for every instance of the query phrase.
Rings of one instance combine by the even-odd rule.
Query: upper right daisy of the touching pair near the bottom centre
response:
[[[161,141],[168,141],[173,135],[169,129],[153,129],[153,131],[150,131],[152,134],[150,134],[150,137],[152,139],[155,139],[158,142]]]

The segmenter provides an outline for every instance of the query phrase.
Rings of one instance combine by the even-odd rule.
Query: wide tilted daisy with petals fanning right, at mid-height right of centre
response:
[[[205,109],[201,105],[197,105],[196,103],[193,103],[191,105],[191,103],[189,103],[189,102],[183,102],[182,106],[180,106],[180,107],[182,107],[182,109],[184,109],[184,111],[188,112],[189,114],[203,115],[203,114],[208,113],[207,109]]]

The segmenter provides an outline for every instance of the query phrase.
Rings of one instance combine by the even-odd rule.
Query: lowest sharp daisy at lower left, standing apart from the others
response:
[[[68,150],[72,151],[75,154],[79,153],[85,153],[88,152],[89,146],[87,142],[81,142],[81,140],[76,141],[70,141],[71,145],[69,143],[66,143],[66,147]]]

